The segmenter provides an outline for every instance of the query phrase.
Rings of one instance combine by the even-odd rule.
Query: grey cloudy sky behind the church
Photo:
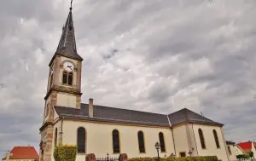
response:
[[[0,154],[37,147],[49,60],[68,0],[0,1]],[[256,140],[256,1],[74,0],[82,101],[145,112],[189,108]]]

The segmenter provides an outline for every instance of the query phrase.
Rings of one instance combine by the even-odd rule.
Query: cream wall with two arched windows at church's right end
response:
[[[206,149],[201,148],[201,141],[198,133],[198,129],[201,129],[205,138]],[[218,134],[218,141],[220,148],[216,147],[216,143],[214,140],[212,130],[215,129]],[[195,132],[195,141],[197,145],[197,151],[199,156],[212,156],[216,155],[218,159],[222,161],[229,160],[229,153],[226,152],[226,143],[224,140],[224,136],[222,135],[222,128],[218,126],[207,126],[201,124],[194,124],[194,132]]]

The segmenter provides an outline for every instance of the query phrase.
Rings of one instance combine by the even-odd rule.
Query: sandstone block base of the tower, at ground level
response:
[[[51,161],[53,135],[53,125],[47,124],[41,131],[39,161]]]

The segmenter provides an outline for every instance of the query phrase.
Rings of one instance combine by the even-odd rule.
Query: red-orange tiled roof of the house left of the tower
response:
[[[10,156],[9,158],[39,158],[38,152],[35,150],[34,147],[14,147],[10,153],[12,153],[13,155]]]

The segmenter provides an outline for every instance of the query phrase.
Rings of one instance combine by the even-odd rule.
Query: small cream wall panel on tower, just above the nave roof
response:
[[[77,97],[75,95],[57,94],[57,106],[76,107]]]

